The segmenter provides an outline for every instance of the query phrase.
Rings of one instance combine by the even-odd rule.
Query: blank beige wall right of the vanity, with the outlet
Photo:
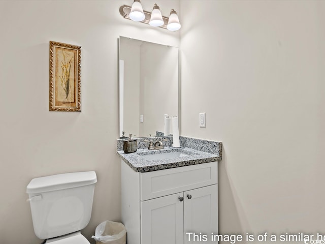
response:
[[[223,234],[324,232],[324,12],[324,1],[181,1],[182,135],[223,143]]]

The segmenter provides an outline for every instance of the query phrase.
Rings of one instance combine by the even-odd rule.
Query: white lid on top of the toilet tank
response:
[[[82,187],[97,182],[95,171],[56,174],[34,178],[27,185],[26,193],[42,193],[75,187]]]

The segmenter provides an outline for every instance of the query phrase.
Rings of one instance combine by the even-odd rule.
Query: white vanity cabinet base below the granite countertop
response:
[[[218,233],[217,162],[140,173],[122,161],[121,171],[127,244],[211,243],[211,232]]]

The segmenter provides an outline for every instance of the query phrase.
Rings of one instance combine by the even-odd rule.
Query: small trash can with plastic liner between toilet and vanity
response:
[[[107,220],[96,227],[95,235],[91,238],[99,242],[109,243],[121,239],[125,234],[126,229],[122,223]]]

